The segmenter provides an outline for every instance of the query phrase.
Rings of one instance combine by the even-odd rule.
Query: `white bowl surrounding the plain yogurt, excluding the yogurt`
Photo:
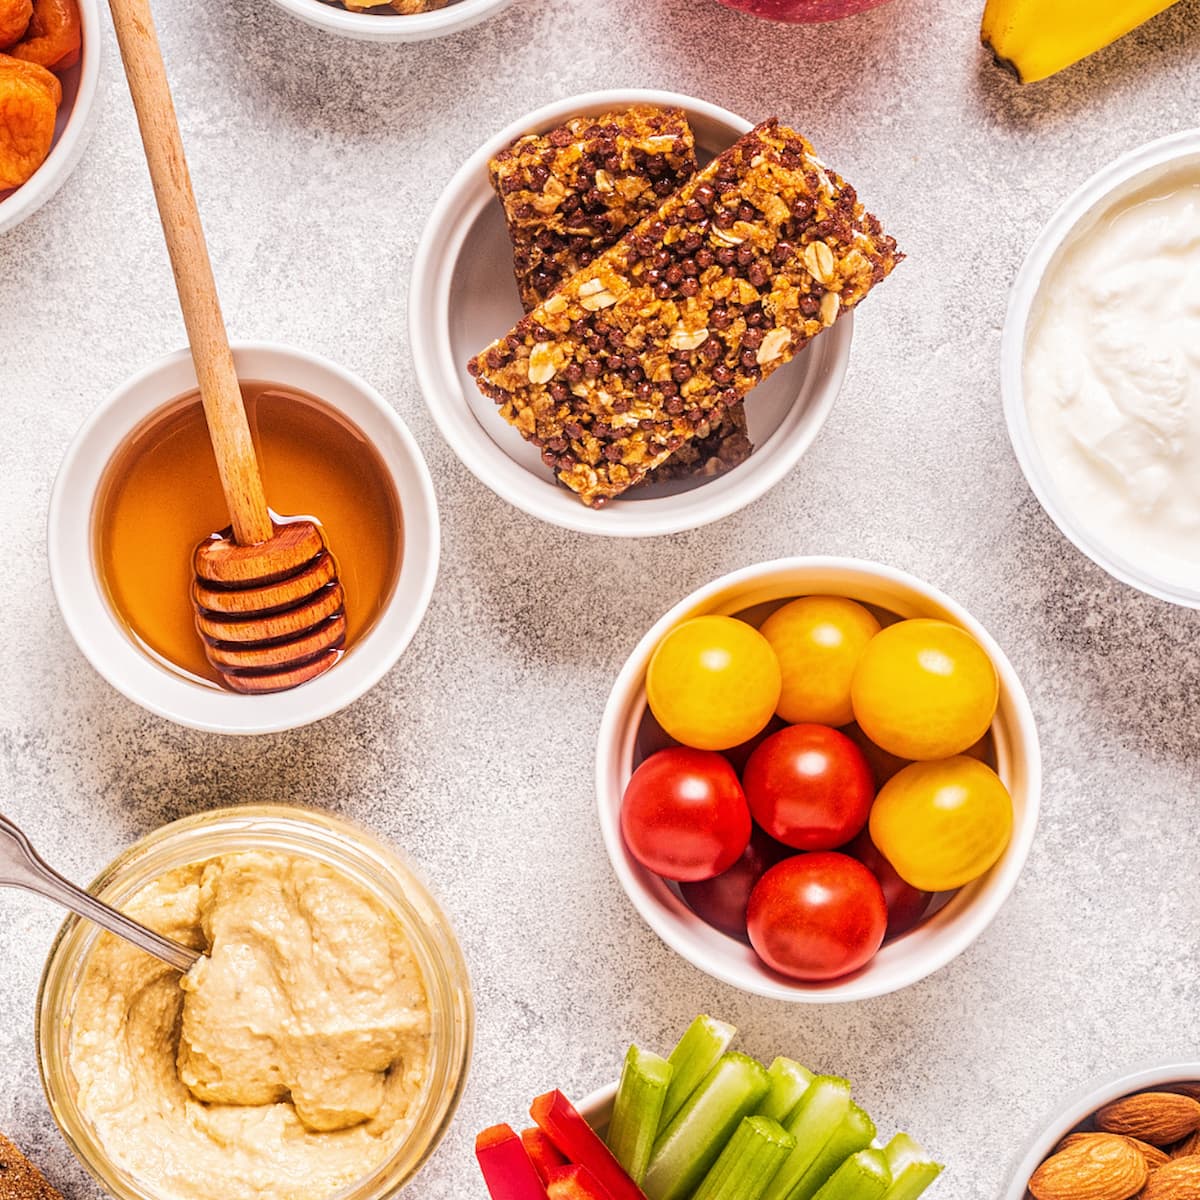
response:
[[[1088,558],[1121,580],[1150,595],[1172,604],[1200,607],[1200,589],[1186,587],[1156,575],[1106,545],[1081,521],[1055,482],[1054,472],[1038,450],[1025,407],[1022,370],[1030,314],[1038,300],[1042,282],[1063,248],[1080,233],[1093,228],[1123,197],[1140,191],[1157,178],[1181,167],[1200,168],[1200,128],[1187,130],[1140,146],[1097,172],[1070,196],[1046,223],[1021,266],[1008,302],[1001,341],[1001,392],[1008,434],[1016,460],[1033,494],[1062,533]]]

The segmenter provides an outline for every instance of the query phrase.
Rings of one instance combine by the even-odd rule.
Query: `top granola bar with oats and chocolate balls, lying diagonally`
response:
[[[764,121],[469,364],[584,504],[646,478],[902,256],[810,143]]]

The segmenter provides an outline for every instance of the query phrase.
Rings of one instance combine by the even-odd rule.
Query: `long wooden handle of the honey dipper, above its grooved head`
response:
[[[149,0],[109,0],[236,541],[274,533]]]

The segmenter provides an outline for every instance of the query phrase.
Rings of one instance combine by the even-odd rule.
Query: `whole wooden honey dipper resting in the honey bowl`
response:
[[[196,548],[192,600],[226,686],[283,691],[328,671],[346,642],[337,564],[311,520],[276,523],[250,436],[212,264],[148,0],[109,0],[142,131],[233,536]]]

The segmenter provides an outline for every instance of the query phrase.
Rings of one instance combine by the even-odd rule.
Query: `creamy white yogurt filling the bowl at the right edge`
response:
[[[1051,264],[1024,394],[1084,532],[1200,589],[1200,170],[1120,200]]]

